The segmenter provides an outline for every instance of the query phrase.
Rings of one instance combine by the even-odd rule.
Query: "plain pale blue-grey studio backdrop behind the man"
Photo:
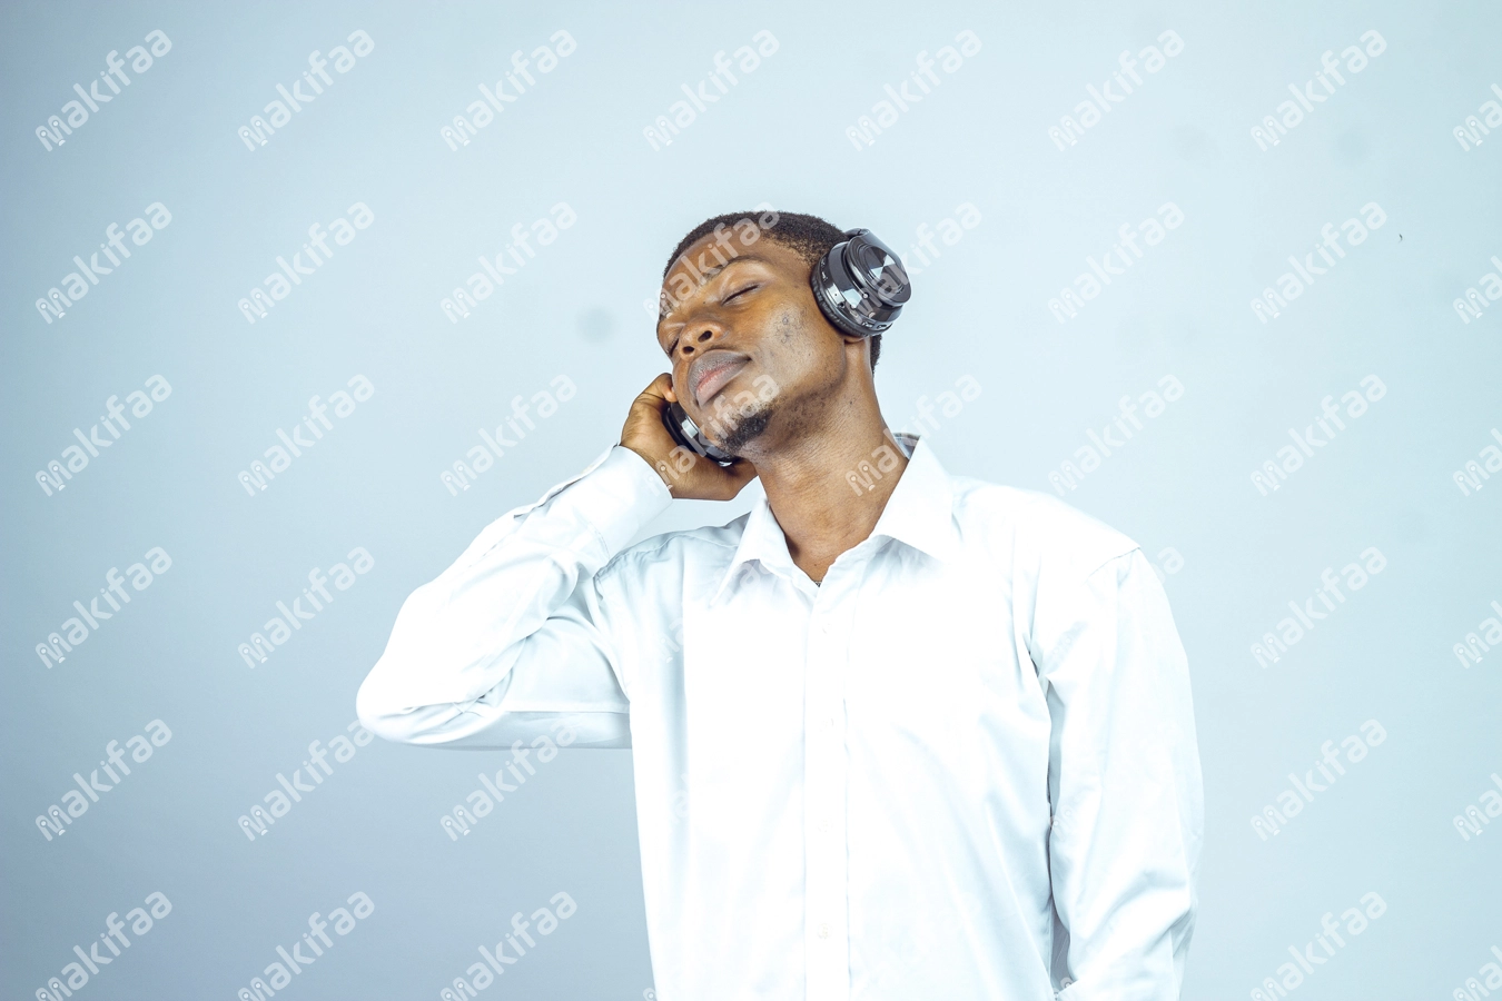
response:
[[[919,60],[966,30],[979,51],[937,84],[922,77],[924,92]],[[1362,41],[1373,30],[1385,48]],[[170,50],[143,72],[126,53],[149,51],[152,32]],[[1167,32],[1182,50],[1149,72],[1139,54]],[[105,917],[153,891],[171,912],[128,932],[86,996],[234,996],[309,914],[356,891],[374,912],[287,990],[437,996],[514,912],[563,891],[577,912],[491,990],[650,996],[629,752],[541,764],[463,836],[442,818],[508,755],[377,740],[330,758],[264,834],[239,818],[311,741],[347,734],[403,599],[617,440],[662,371],[643,300],[668,251],[703,218],[763,201],[870,227],[913,267],[876,377],[894,428],[928,435],[954,473],[1063,494],[1172,570],[1206,803],[1184,996],[1247,996],[1323,914],[1373,891],[1386,911],[1301,996],[1449,996],[1491,959],[1502,822],[1487,828],[1482,794],[1502,771],[1502,650],[1481,623],[1502,599],[1502,477],[1484,452],[1502,425],[1502,302],[1487,288],[1502,290],[1484,276],[1502,255],[1502,129],[1487,135],[1482,105],[1502,84],[1496,5],[12,5],[3,38],[6,996],[33,996],[74,945],[108,956]],[[338,72],[338,45],[365,51]],[[557,65],[533,57],[532,84],[506,81],[512,53],[542,45]],[[753,71],[733,56],[745,45],[763,50]],[[1380,51],[1352,72],[1350,47]],[[315,50],[333,81],[321,93],[303,78]],[[120,93],[101,78],[111,51]],[[724,93],[707,80],[719,51],[737,66]],[[1329,90],[1326,51],[1343,78],[1326,75]],[[1122,54],[1139,59],[1130,95]],[[882,110],[904,81],[921,101]],[[74,84],[110,101],[48,128],[69,125]],[[455,128],[481,117],[481,84],[514,101]],[[314,99],[290,120],[267,111],[294,87]],[[1086,111],[1096,99],[1110,110]],[[1169,203],[1182,222],[1125,257],[1122,224],[1140,233]],[[1347,242],[1346,221],[1373,204],[1385,221]],[[961,215],[969,228],[945,224]],[[131,221],[153,216],[134,242]],[[533,224],[565,218],[547,245],[514,243],[518,224],[547,234]],[[110,267],[96,248],[111,224],[132,254],[90,269],[77,297],[72,258]],[[317,267],[314,224],[333,234]],[[1334,266],[1316,252],[1325,224]],[[455,302],[479,285],[476,258],[508,245],[515,273]],[[311,273],[273,306],[239,305],[275,293],[278,258],[297,254]],[[1108,285],[1081,278],[1102,272]],[[153,375],[170,395],[144,417],[128,404],[113,440],[107,398]],[[374,392],[335,416],[357,375]],[[455,476],[479,428],[560,375],[572,398],[547,417],[533,405],[526,438]],[[1169,375],[1182,398],[1139,413],[1125,438],[1119,401]],[[1370,375],[1386,392],[1359,417],[1340,402],[1344,429],[1326,438],[1320,401]],[[957,408],[940,393],[964,377],[981,393]],[[330,405],[323,438],[248,488],[240,473],[269,462],[279,431],[314,440],[299,422],[315,395]],[[1326,444],[1310,447],[1311,426]],[[75,428],[110,444],[68,453]],[[1122,441],[1110,455],[1104,434]],[[649,534],[722,524],[756,489],[674,504]],[[131,602],[81,626],[63,660],[36,651],[78,635],[74,602],[111,611],[107,572],[153,548],[170,569],[126,585]],[[374,566],[264,662],[242,656],[314,567],[332,573],[356,548]],[[1325,611],[1322,570],[1371,548],[1385,569]],[[1326,618],[1304,629],[1290,602]],[[56,822],[66,834],[44,833],[35,818],[80,788],[74,773],[89,785],[105,746],[152,720],[170,740],[128,756],[129,776]],[[1316,770],[1328,789],[1301,797],[1322,744],[1368,720],[1386,740],[1359,762],[1343,753],[1334,783]],[[1268,807],[1277,834],[1250,822]]]

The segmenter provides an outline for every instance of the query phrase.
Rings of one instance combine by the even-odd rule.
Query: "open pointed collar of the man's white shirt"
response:
[[[907,468],[903,470],[897,488],[886,498],[886,507],[877,518],[871,537],[885,536],[919,549],[940,561],[952,561],[960,554],[960,533],[954,522],[954,491],[949,474],[939,464],[933,449],[919,437],[897,434],[897,440],[909,452]],[[793,557],[787,551],[787,536],[777,524],[766,495],[757,498],[746,515],[740,533],[740,545],[715,587],[710,603],[719,600],[725,585],[751,561],[762,569],[790,578]]]

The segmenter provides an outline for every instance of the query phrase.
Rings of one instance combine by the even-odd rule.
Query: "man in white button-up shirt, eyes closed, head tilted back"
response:
[[[1163,588],[1119,533],[891,435],[880,342],[810,287],[843,239],[792,213],[683,239],[671,374],[407,599],[360,722],[632,747],[664,1001],[1178,998],[1202,792]],[[739,461],[685,464],[671,401]],[[623,548],[753,477],[751,513]]]

